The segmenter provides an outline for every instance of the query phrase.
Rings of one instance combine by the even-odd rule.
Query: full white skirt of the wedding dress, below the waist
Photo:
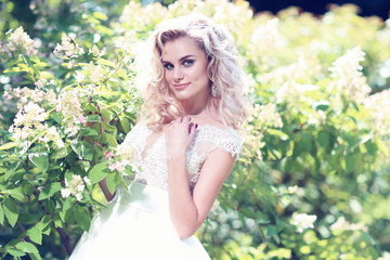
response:
[[[92,220],[69,260],[209,260],[192,236],[180,239],[169,217],[168,193],[133,182]]]

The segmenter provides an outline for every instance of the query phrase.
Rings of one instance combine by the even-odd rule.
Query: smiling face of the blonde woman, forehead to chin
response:
[[[190,38],[166,42],[161,63],[165,79],[178,100],[206,105],[210,96],[206,53]]]

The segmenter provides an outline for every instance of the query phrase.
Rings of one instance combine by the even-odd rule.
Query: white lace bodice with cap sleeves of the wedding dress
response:
[[[134,181],[168,190],[168,165],[166,138],[147,129],[141,120],[126,136],[125,150],[132,151],[132,165],[138,166]],[[232,128],[198,126],[194,140],[186,152],[188,184],[193,187],[199,177],[207,155],[221,148],[232,156],[238,156],[240,139]]]

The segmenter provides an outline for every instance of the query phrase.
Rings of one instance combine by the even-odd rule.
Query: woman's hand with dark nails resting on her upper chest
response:
[[[193,123],[188,116],[180,117],[166,127],[168,158],[185,155],[194,139],[196,128],[197,123]]]

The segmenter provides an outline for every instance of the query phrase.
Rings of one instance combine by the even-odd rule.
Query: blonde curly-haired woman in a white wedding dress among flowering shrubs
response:
[[[70,259],[210,259],[194,233],[239,152],[244,73],[232,36],[203,16],[160,24],[151,43],[141,119],[121,145],[140,170]]]

